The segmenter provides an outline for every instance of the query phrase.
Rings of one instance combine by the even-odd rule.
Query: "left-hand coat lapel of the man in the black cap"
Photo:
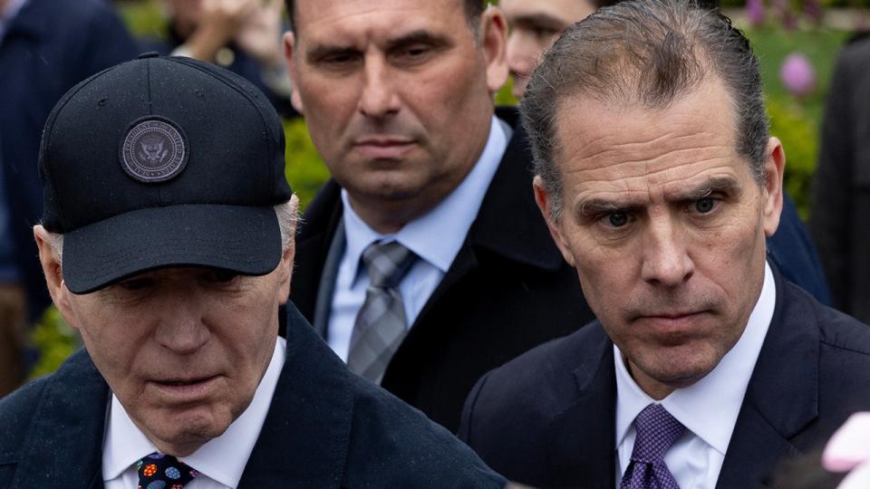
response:
[[[12,487],[102,487],[108,401],[91,358],[75,353],[45,386]]]

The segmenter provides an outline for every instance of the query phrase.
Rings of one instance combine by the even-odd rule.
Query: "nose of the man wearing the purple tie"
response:
[[[695,270],[685,233],[671,216],[655,216],[650,220],[643,243],[643,281],[656,286],[677,287],[687,282]]]

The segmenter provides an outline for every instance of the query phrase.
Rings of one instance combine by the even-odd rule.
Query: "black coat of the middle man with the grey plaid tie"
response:
[[[498,115],[516,127],[505,156],[459,254],[382,379],[383,388],[452,431],[481,375],[593,318],[535,204],[517,113]],[[330,181],[305,210],[296,241],[290,299],[315,324],[324,321],[314,313],[318,292],[333,286],[341,259],[327,256],[342,212],[340,188]]]

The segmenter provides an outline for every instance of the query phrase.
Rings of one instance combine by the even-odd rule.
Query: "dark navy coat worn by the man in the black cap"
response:
[[[290,309],[284,369],[240,488],[500,488],[447,430],[351,374]],[[85,351],[0,400],[0,488],[101,488],[110,391]]]

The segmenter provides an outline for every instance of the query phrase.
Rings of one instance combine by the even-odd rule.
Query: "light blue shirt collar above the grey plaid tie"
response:
[[[360,256],[366,246],[379,240],[395,239],[423,260],[447,273],[450,264],[478,216],[480,204],[489,183],[496,174],[498,164],[507,149],[507,135],[495,116],[489,127],[487,146],[480,154],[468,177],[438,206],[417,217],[394,235],[381,235],[367,225],[350,206],[347,191],[342,189],[344,205],[344,233],[347,237],[346,255],[353,264],[353,277],[359,277]]]

